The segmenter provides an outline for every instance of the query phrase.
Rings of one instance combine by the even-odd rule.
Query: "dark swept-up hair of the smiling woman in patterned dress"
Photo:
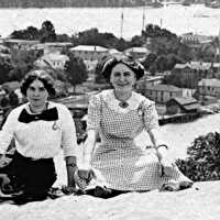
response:
[[[111,76],[111,70],[117,64],[124,64],[132,72],[134,72],[136,79],[139,80],[142,76],[144,76],[144,67],[136,61],[134,61],[130,56],[121,55],[119,57],[116,56],[106,56],[101,61],[101,74],[109,81]]]

